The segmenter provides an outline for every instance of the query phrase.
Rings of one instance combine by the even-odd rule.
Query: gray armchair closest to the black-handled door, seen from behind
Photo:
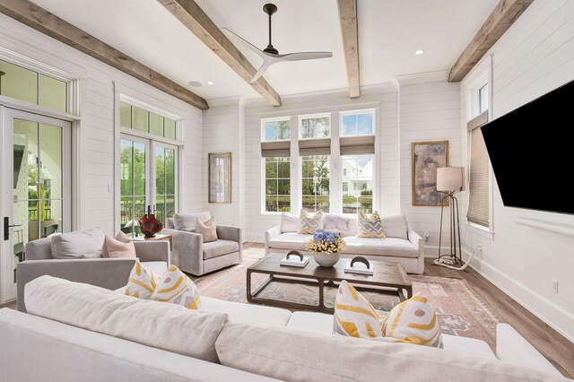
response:
[[[16,268],[18,310],[25,312],[24,286],[39,276],[48,274],[72,282],[84,282],[109,290],[127,283],[135,258],[54,259],[51,238],[33,240],[26,244],[26,261]],[[134,242],[135,255],[154,272],[170,265],[170,242],[163,240]]]

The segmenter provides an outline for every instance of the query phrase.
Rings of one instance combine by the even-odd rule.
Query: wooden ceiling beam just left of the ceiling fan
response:
[[[207,48],[213,50],[223,62],[248,82],[259,94],[269,101],[273,106],[281,106],[281,97],[265,81],[259,77],[256,82],[251,83],[251,79],[257,73],[257,69],[249,63],[248,59],[239,52],[230,39],[228,39],[215,23],[204,13],[204,11],[193,0],[158,0],[179,22],[183,23],[188,30],[200,39]]]

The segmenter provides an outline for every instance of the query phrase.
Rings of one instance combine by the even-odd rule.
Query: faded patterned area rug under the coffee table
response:
[[[244,250],[243,263],[220,272],[195,279],[202,296],[220,300],[247,302],[246,269],[264,256],[263,248]],[[477,338],[495,347],[496,325],[500,322],[488,305],[474,293],[465,280],[409,275],[413,292],[422,292],[439,314],[442,333]],[[264,274],[254,275],[253,288],[266,279]],[[326,306],[333,306],[335,288],[326,290]],[[374,308],[388,311],[398,298],[380,293],[364,292]],[[287,282],[272,282],[260,297],[317,305],[317,287]]]

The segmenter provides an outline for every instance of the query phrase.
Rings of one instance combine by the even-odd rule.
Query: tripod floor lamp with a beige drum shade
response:
[[[458,199],[455,194],[463,189],[462,167],[441,167],[437,169],[437,191],[444,193],[440,204],[439,263],[463,264],[460,242],[460,218]],[[445,204],[450,205],[450,253],[442,253],[442,221]]]

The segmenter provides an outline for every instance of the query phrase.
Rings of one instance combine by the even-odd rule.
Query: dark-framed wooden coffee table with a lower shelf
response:
[[[392,294],[403,301],[413,296],[413,284],[409,280],[403,265],[387,261],[370,260],[374,274],[345,273],[344,268],[351,258],[342,258],[331,268],[323,268],[310,256],[309,264],[304,268],[279,265],[284,254],[269,254],[254,265],[248,267],[247,293],[248,302],[271,305],[279,308],[313,310],[333,313],[333,308],[325,306],[325,287],[336,287],[346,280],[351,282],[359,291],[374,291]],[[251,291],[251,276],[253,273],[268,274],[269,278],[256,291]],[[291,282],[313,284],[318,286],[318,305],[300,304],[291,301],[272,300],[258,297],[271,282]]]

